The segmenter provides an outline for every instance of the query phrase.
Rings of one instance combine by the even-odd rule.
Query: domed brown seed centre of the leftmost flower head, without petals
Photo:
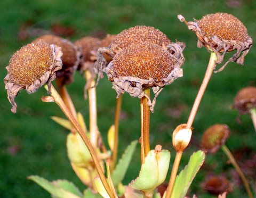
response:
[[[44,42],[27,44],[15,52],[7,66],[9,78],[19,86],[31,85],[53,64],[52,47]]]

